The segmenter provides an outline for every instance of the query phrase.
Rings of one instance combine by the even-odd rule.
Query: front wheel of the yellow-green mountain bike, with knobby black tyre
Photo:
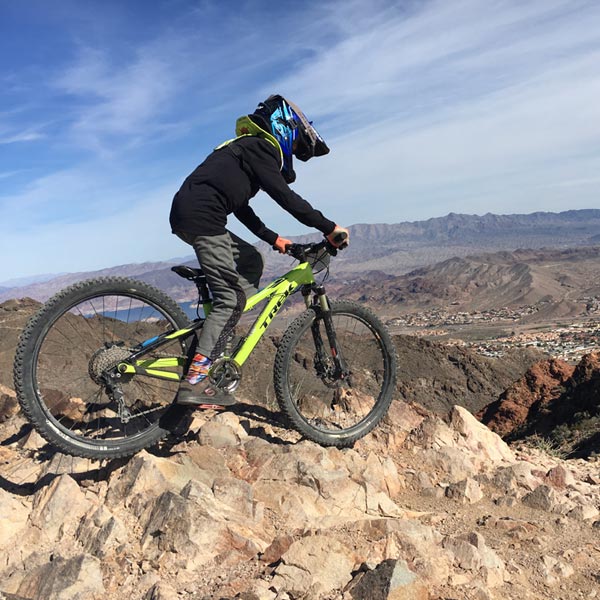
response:
[[[397,358],[387,329],[369,309],[331,302],[330,314],[335,344],[319,308],[310,308],[287,328],[275,357],[275,394],[306,438],[343,448],[387,413]]]

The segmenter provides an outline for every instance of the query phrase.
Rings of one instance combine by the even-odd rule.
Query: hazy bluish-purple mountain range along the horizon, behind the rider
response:
[[[524,215],[488,213],[483,216],[451,213],[426,221],[358,224],[353,225],[350,230],[351,245],[341,252],[334,262],[334,281],[361,278],[361,275],[372,271],[380,272],[385,279],[385,276],[399,276],[417,268],[483,253],[593,246],[600,243],[600,210],[538,212]],[[293,240],[308,241],[319,237],[317,234],[295,237]],[[267,259],[264,280],[291,267],[292,261],[289,257],[276,254],[262,242],[258,247]],[[0,288],[0,302],[22,297],[43,301],[75,281],[112,275],[138,277],[165,289],[179,300],[191,299],[194,289],[190,289],[187,282],[170,271],[173,262],[120,265],[94,272],[63,274],[48,281],[37,281],[9,289]],[[526,261],[523,259],[520,262]],[[194,264],[195,260],[189,263]],[[460,261],[447,262],[443,267],[445,277],[449,280],[456,279],[457,271],[463,267],[467,270],[470,268]],[[522,267],[513,265],[510,268],[514,271]],[[492,269],[488,273],[490,277],[494,275],[493,271]],[[496,274],[500,276],[498,268]],[[506,273],[501,276],[505,279],[512,277]],[[365,279],[365,285],[368,283],[373,283],[371,277]],[[364,292],[368,295],[367,290]],[[492,295],[494,293],[490,292]]]

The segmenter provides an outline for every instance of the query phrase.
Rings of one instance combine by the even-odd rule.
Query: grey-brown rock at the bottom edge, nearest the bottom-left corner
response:
[[[16,594],[36,600],[100,600],[105,597],[100,561],[86,554],[53,556],[24,574]]]

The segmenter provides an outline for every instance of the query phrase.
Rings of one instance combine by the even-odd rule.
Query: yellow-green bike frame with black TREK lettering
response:
[[[288,271],[285,275],[275,279],[265,288],[251,296],[246,301],[244,312],[252,310],[258,303],[263,300],[268,300],[264,308],[254,321],[248,335],[244,339],[234,354],[230,357],[238,367],[241,367],[254,348],[258,344],[265,331],[268,329],[275,315],[280,311],[285,304],[287,298],[294,293],[298,287],[303,285],[312,285],[315,283],[312,268],[308,262],[303,262]],[[201,299],[202,300],[202,299]],[[210,311],[210,303],[203,303],[205,314]],[[121,374],[128,375],[146,375],[156,377],[158,379],[167,379],[171,381],[179,381],[180,376],[172,369],[173,367],[183,367],[187,358],[181,356],[163,357],[156,359],[142,358],[148,352],[156,350],[173,340],[182,338],[185,339],[200,329],[204,324],[204,319],[198,319],[190,327],[168,331],[159,336],[150,338],[136,348],[127,362],[122,362],[117,366],[117,370]]]

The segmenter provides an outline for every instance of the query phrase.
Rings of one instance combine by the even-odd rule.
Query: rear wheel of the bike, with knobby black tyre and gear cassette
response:
[[[160,440],[181,367],[172,380],[118,373],[132,348],[189,325],[160,290],[126,278],[77,283],[51,298],[19,339],[14,379],[26,416],[67,454],[115,458]],[[174,340],[143,356],[184,356]]]

